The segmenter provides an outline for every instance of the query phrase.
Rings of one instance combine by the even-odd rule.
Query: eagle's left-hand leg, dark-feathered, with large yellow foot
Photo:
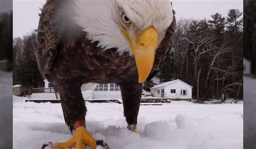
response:
[[[79,80],[73,79],[66,81],[58,80],[58,83],[53,83],[55,90],[59,93],[60,102],[64,114],[66,124],[70,131],[75,130],[73,138],[64,142],[53,144],[51,148],[84,148],[90,146],[95,149],[98,145],[109,148],[102,140],[92,138],[89,131],[86,130],[85,115],[86,106],[81,92],[82,84]]]

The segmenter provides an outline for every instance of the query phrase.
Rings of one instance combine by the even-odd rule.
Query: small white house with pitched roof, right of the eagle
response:
[[[153,97],[192,99],[192,86],[179,79],[156,85],[150,90]]]

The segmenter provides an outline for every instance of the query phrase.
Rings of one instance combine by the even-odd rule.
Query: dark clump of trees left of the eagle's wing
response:
[[[14,84],[22,84],[25,87],[36,88],[43,86],[43,78],[38,70],[34,53],[36,33],[14,39],[15,66]],[[21,44],[21,45],[20,45]]]

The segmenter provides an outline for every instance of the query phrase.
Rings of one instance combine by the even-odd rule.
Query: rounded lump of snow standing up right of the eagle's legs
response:
[[[178,114],[175,118],[177,127],[180,129],[199,128],[199,121],[184,114]]]

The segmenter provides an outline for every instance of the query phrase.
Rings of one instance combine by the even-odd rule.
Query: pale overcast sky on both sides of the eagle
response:
[[[242,0],[173,0],[172,2],[178,19],[181,17],[210,19],[216,12],[227,16],[229,9],[243,10]],[[44,3],[45,1],[42,0],[14,0],[14,37],[21,37],[37,28],[39,7]]]

